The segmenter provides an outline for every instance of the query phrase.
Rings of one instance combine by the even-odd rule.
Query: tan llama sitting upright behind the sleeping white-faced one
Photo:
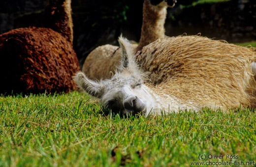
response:
[[[173,7],[175,2],[176,0],[144,0],[139,45],[133,44],[132,46],[135,52],[164,37],[166,8]],[[109,79],[111,74],[115,73],[121,58],[122,51],[118,46],[99,46],[86,57],[82,71],[90,79]]]

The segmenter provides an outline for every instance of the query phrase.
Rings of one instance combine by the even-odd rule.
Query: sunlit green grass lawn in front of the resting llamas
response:
[[[0,97],[0,167],[190,167],[222,160],[256,162],[255,110],[120,118],[105,116],[76,91]]]

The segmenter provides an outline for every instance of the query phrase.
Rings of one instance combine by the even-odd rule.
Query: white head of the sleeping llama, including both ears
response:
[[[143,84],[144,75],[134,62],[131,44],[122,36],[119,38],[122,48],[122,62],[115,75],[109,80],[95,82],[84,73],[78,72],[74,77],[80,88],[99,99],[100,103],[114,112],[121,114],[145,115],[152,109],[153,100]]]

